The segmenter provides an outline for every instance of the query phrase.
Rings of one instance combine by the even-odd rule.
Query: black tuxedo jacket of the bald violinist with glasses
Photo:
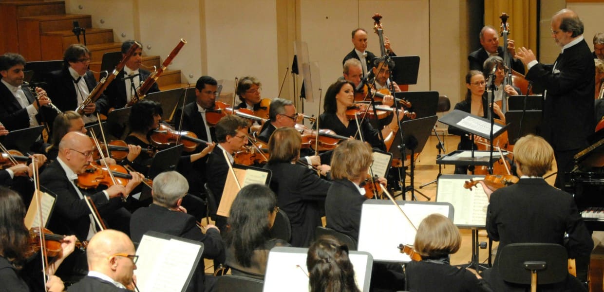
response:
[[[57,195],[53,214],[48,221],[48,229],[57,234],[75,234],[79,240],[86,240],[90,226],[88,216],[90,211],[86,202],[80,199],[76,189],[69,182],[58,160],[54,160],[42,171],[40,184]],[[89,195],[86,191],[80,191],[83,195]],[[120,198],[107,200],[103,192],[96,192],[89,197],[97,206],[101,217],[121,206]]]

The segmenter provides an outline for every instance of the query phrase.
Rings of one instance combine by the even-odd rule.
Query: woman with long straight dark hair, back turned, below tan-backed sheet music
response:
[[[279,212],[277,198],[268,186],[248,185],[239,191],[231,205],[225,232],[226,261],[233,275],[263,279],[268,253],[275,246],[289,246],[271,239],[271,227]]]

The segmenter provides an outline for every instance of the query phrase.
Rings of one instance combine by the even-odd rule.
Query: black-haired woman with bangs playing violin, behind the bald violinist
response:
[[[156,101],[141,100],[135,103],[128,117],[130,134],[124,141],[127,144],[138,145],[142,148],[153,148],[150,135],[153,133],[153,130],[158,129],[162,113],[161,104]],[[213,149],[214,144],[211,144],[199,153],[181,156],[179,168],[190,165],[191,162],[206,156]],[[147,173],[152,158],[149,153],[141,153],[133,161],[132,167],[140,173]]]

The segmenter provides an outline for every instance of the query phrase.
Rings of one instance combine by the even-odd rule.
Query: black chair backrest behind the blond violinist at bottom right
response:
[[[531,283],[531,271],[527,264],[544,262],[537,271],[537,284],[562,282],[568,275],[567,250],[552,243],[513,243],[503,247],[497,255],[501,278],[516,284]]]

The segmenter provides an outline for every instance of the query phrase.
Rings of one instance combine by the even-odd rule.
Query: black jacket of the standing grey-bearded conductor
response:
[[[594,132],[594,87],[596,68],[585,40],[564,49],[553,65],[538,63],[526,78],[547,89],[541,135],[556,151],[587,146]]]

